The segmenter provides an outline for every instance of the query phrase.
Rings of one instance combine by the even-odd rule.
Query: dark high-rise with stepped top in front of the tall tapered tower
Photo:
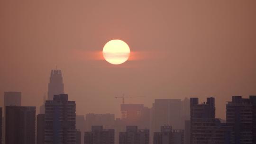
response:
[[[45,144],[75,144],[75,101],[68,101],[67,94],[54,95],[45,107]]]

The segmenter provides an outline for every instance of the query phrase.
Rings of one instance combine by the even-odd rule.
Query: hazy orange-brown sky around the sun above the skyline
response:
[[[40,106],[50,71],[62,70],[76,113],[114,113],[122,99],[214,96],[225,118],[231,96],[256,95],[255,0],[0,0],[0,106],[21,91]],[[112,39],[130,47],[127,62],[102,57]],[[38,109],[37,109],[38,110]]]

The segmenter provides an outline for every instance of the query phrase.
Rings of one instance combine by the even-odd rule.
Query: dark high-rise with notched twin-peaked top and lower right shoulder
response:
[[[215,118],[215,100],[199,104],[198,98],[190,98],[191,144],[230,144],[230,126]]]

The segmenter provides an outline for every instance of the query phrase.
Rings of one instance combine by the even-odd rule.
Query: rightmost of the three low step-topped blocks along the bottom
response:
[[[154,132],[154,144],[184,144],[184,130],[161,126],[161,132]]]

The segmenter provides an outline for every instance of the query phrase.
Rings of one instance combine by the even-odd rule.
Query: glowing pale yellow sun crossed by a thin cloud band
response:
[[[107,62],[111,64],[121,64],[128,60],[130,48],[124,41],[114,39],[104,45],[102,54]]]

